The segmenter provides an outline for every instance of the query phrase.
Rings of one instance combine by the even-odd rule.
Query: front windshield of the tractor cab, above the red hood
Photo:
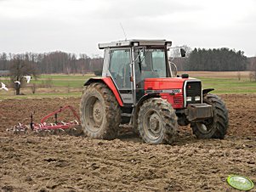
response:
[[[168,77],[164,48],[136,48],[134,52],[136,82]]]

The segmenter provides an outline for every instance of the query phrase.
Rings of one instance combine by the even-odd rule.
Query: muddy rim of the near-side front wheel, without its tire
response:
[[[151,139],[158,139],[162,133],[161,118],[155,110],[149,110],[144,119],[145,133]]]

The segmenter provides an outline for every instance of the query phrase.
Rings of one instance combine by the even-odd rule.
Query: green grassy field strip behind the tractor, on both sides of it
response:
[[[190,73],[190,72],[189,72]],[[213,93],[256,93],[256,82],[249,81],[247,73],[242,73],[239,81],[236,72],[191,72],[192,77],[202,80],[203,88],[214,88]],[[15,96],[14,89],[9,92],[0,90],[0,99],[12,98],[45,98],[45,97],[81,97],[83,83],[89,75],[42,75],[32,79],[31,83],[26,84],[26,88],[21,89],[25,95]],[[0,82],[9,84],[9,79],[1,77]],[[37,91],[31,93],[31,86],[35,84]]]

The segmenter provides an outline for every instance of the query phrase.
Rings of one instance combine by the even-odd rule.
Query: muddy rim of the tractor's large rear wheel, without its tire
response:
[[[100,103],[100,99],[91,97],[85,106],[85,122],[88,125],[88,129],[92,132],[99,131],[104,116],[104,109]]]

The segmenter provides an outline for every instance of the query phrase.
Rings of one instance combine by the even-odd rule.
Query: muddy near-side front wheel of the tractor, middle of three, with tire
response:
[[[177,128],[177,116],[167,100],[152,98],[141,105],[138,129],[145,143],[171,144],[177,135]]]

